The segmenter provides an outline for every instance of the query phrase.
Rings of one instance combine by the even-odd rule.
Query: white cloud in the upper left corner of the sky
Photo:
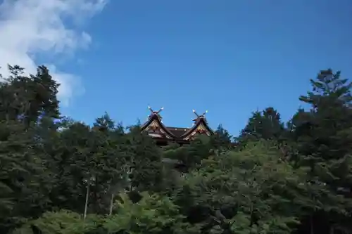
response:
[[[92,41],[82,24],[99,13],[107,0],[4,0],[0,5],[0,73],[6,77],[7,64],[25,67],[34,73],[38,53],[74,53],[87,48]],[[0,0],[1,2],[1,0]],[[65,23],[70,22],[70,27]],[[75,74],[47,65],[60,84],[58,96],[63,105],[82,93],[82,84]],[[79,90],[79,93],[77,93]]]

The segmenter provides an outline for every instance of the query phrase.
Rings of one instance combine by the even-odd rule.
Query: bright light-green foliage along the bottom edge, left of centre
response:
[[[169,197],[144,192],[142,199],[134,203],[121,193],[112,216],[89,215],[83,221],[80,214],[67,210],[46,212],[13,234],[199,233],[184,222],[178,209]]]

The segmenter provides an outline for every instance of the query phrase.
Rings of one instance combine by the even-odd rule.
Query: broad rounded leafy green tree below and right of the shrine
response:
[[[200,169],[184,181],[182,193],[189,190],[187,197],[194,200],[189,219],[199,222],[193,214],[196,210],[208,213],[201,220],[203,233],[289,233],[287,225],[295,223],[296,217],[287,212],[289,197],[280,193],[300,178],[289,164],[279,161],[278,154],[258,144],[203,160]]]

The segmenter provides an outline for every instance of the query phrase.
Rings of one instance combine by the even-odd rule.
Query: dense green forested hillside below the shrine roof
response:
[[[8,69],[1,234],[352,233],[352,96],[340,72],[311,79],[297,97],[310,108],[287,123],[268,107],[239,136],[219,126],[160,148],[108,114],[91,126],[62,117],[46,67]]]

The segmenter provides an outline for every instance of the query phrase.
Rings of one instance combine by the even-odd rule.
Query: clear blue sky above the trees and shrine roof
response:
[[[168,126],[208,110],[237,135],[257,109],[289,119],[319,70],[352,76],[349,0],[111,0],[81,26],[92,44],[56,67],[81,77],[62,112],[87,123],[143,122],[151,105]]]

